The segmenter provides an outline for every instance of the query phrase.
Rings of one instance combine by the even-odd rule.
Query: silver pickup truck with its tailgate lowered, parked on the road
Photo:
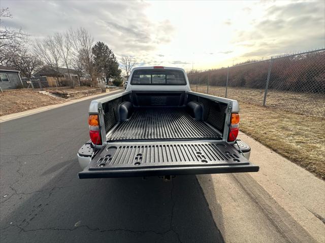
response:
[[[191,91],[181,68],[134,68],[124,92],[91,102],[79,178],[257,172],[238,112],[236,100]]]

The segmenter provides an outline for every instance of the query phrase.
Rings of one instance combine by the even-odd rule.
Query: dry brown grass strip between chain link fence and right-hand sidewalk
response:
[[[325,118],[243,102],[240,108],[241,131],[325,179]]]

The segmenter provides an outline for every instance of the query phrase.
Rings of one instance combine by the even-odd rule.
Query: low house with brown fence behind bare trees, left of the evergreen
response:
[[[61,83],[65,83],[69,80],[70,77],[76,82],[79,83],[79,77],[83,79],[85,77],[84,73],[78,73],[78,71],[74,69],[68,69],[64,67],[58,67],[57,70],[51,66],[45,65],[36,71],[33,76],[35,78],[38,77],[46,77],[49,86],[56,86]],[[79,74],[79,75],[78,75]],[[59,84],[56,84],[56,82]]]

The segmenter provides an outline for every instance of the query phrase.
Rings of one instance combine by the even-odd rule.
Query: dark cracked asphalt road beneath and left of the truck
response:
[[[89,103],[0,125],[0,241],[222,242],[196,176],[78,179]]]

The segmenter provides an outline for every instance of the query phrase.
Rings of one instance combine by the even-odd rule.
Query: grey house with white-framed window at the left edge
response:
[[[0,65],[0,87],[2,90],[11,90],[22,87],[19,71],[11,67]]]

